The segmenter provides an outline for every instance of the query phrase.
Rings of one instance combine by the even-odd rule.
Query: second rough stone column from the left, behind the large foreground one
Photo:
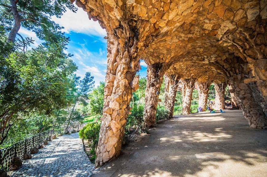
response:
[[[154,126],[158,98],[160,95],[163,75],[168,69],[166,63],[154,63],[147,66],[147,81],[145,89],[144,126],[146,128]]]

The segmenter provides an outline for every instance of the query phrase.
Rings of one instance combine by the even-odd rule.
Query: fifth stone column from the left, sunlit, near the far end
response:
[[[211,83],[197,82],[198,86],[198,105],[202,108],[202,111],[206,111],[209,89]]]

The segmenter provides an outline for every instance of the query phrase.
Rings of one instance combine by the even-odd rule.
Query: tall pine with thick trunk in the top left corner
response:
[[[16,36],[20,36],[20,27],[32,30],[37,37],[51,43],[58,43],[63,37],[60,27],[51,20],[52,16],[60,18],[66,8],[76,12],[70,0],[2,0],[0,3],[0,21],[9,32],[7,43],[15,43]]]

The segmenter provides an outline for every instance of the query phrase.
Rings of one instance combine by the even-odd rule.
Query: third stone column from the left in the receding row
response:
[[[173,116],[174,103],[180,76],[178,76],[177,74],[171,74],[171,75],[165,75],[164,78],[165,77],[168,77],[168,90],[165,89],[165,99],[167,98],[165,100],[165,107],[168,110],[169,119],[171,119]]]

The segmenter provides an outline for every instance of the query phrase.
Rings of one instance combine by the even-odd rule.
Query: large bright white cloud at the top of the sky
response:
[[[53,16],[52,20],[60,26],[64,26],[62,31],[66,33],[73,31],[101,37],[106,36],[106,30],[100,27],[98,21],[89,20],[87,13],[79,7],[76,13],[67,9],[61,18]]]

